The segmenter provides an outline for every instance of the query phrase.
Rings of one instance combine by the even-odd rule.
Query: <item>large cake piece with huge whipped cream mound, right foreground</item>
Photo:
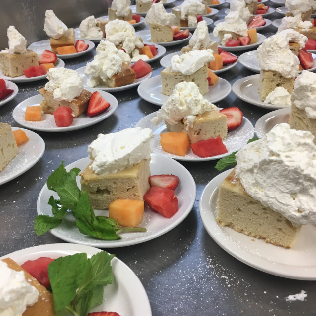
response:
[[[316,146],[310,132],[282,123],[236,154],[219,189],[217,220],[237,232],[291,248],[316,223]]]

